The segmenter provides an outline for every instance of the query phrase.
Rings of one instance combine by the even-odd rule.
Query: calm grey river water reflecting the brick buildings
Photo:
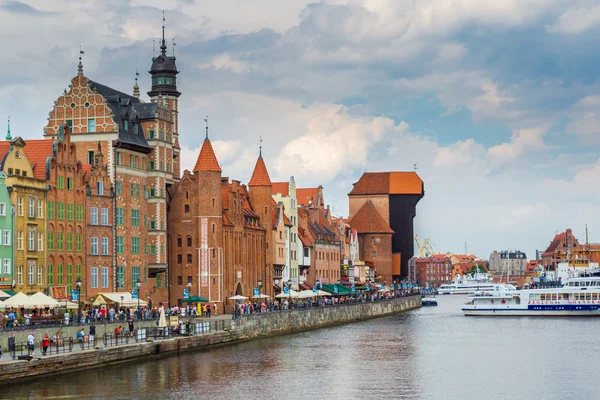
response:
[[[438,307],[40,378],[1,399],[598,399],[595,319],[464,317]]]

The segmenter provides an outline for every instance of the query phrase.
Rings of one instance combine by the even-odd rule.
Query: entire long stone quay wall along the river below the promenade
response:
[[[381,302],[252,314],[232,322],[230,331],[82,350],[32,361],[2,361],[0,362],[0,385],[39,375],[82,371],[143,357],[157,357],[159,354],[179,354],[193,349],[209,349],[228,343],[363,321],[419,307],[421,307],[421,297],[411,296]],[[149,323],[152,326],[154,322],[149,321]],[[8,354],[4,357],[6,356]]]

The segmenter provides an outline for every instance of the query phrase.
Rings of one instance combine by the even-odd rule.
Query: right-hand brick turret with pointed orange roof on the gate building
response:
[[[273,240],[273,225],[271,222],[271,204],[272,204],[272,188],[271,188],[271,178],[269,177],[269,172],[267,171],[267,166],[265,165],[265,160],[262,156],[262,144],[260,146],[258,152],[258,159],[256,160],[256,165],[254,166],[254,171],[252,172],[252,177],[248,182],[249,187],[249,195],[250,195],[250,203],[254,208],[254,211],[260,217],[261,225],[266,230],[266,254],[265,254],[265,271],[262,276],[262,291],[261,293],[265,293],[268,295],[273,294],[274,287],[273,285],[273,249],[274,249],[274,240]]]

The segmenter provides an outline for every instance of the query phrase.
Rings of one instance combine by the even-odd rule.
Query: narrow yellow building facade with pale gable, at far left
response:
[[[45,289],[47,184],[34,175],[25,146],[22,138],[12,139],[0,168],[14,207],[14,290],[27,294]]]

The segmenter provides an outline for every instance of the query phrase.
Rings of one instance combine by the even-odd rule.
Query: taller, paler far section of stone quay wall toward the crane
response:
[[[419,307],[421,307],[421,297],[411,296],[381,302],[251,314],[235,321],[232,329],[241,337],[252,339],[379,318]]]

